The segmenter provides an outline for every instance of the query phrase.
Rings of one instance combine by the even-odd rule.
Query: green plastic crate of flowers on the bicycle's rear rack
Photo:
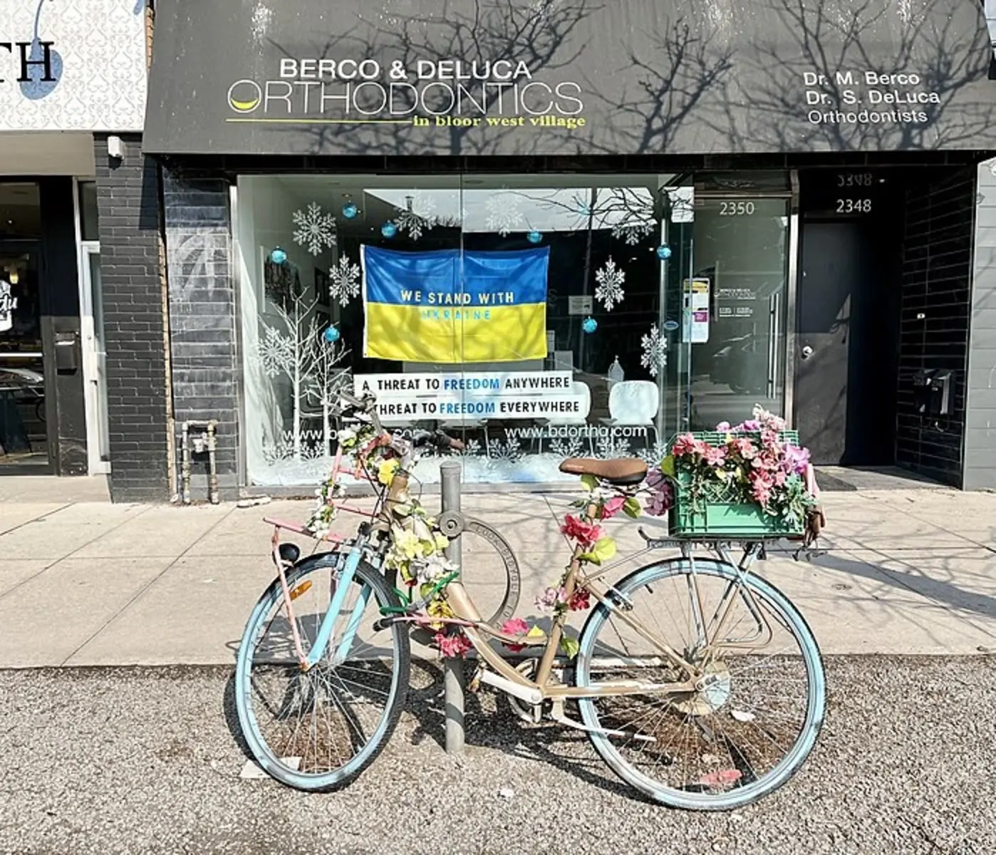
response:
[[[726,433],[716,430],[703,430],[692,433],[696,439],[704,439],[710,445],[724,444]],[[742,433],[755,442],[760,442],[760,433]],[[799,444],[799,434],[795,430],[785,430],[779,437],[783,442]],[[673,444],[673,439],[671,444]],[[674,505],[668,514],[668,528],[672,537],[729,537],[732,539],[752,537],[793,537],[803,534],[802,522],[788,524],[782,517],[765,513],[755,502],[732,501],[730,491],[721,483],[716,484],[714,494],[696,510],[689,492],[691,477],[677,472],[674,490]]]

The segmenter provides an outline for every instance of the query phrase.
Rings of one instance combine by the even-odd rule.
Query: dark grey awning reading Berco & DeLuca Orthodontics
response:
[[[145,149],[983,149],[978,0],[159,0]]]

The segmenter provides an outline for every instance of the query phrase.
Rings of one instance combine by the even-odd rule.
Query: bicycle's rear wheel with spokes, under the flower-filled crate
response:
[[[699,667],[698,692],[579,702],[603,759],[662,804],[728,810],[777,789],[816,741],[826,679],[816,639],[774,586],[712,559],[672,559],[620,582],[582,631],[579,687],[684,682],[666,645]],[[647,639],[647,635],[653,642]]]

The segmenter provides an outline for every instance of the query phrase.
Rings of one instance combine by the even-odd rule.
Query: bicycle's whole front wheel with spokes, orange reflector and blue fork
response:
[[[341,556],[304,559],[287,573],[297,637],[305,655],[340,582]],[[239,724],[256,761],[288,786],[328,790],[367,768],[390,738],[408,688],[406,629],[377,630],[397,595],[361,562],[318,664],[302,671],[279,579],[246,624],[235,672]]]

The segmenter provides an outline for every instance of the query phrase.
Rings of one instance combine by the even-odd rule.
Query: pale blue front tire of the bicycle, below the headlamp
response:
[[[305,577],[316,570],[328,569],[333,566],[335,552],[311,555],[287,571],[289,589],[295,589]],[[365,561],[357,567],[355,582],[370,586],[374,599],[380,606],[397,607],[397,595],[391,590],[383,576],[376,572]],[[402,624],[392,624],[386,632],[390,633],[394,652],[394,665],[391,674],[390,696],[387,708],[382,713],[377,727],[364,748],[349,760],[342,768],[326,774],[312,775],[297,772],[279,762],[277,754],[270,748],[260,731],[252,705],[249,702],[252,694],[250,664],[251,653],[259,641],[260,624],[271,612],[278,601],[283,600],[283,587],[279,579],[275,579],[263,592],[256,603],[239,644],[238,658],[235,670],[235,707],[239,727],[256,762],[272,777],[287,786],[308,792],[326,792],[340,789],[355,780],[376,758],[390,739],[401,712],[404,709],[408,692],[410,675],[410,643],[408,633]]]

